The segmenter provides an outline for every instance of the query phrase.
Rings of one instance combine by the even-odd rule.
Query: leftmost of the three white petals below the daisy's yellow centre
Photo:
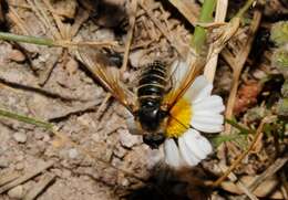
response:
[[[165,162],[168,166],[174,168],[179,168],[182,166],[179,150],[174,139],[169,139],[169,138],[165,139],[164,154],[165,154]]]

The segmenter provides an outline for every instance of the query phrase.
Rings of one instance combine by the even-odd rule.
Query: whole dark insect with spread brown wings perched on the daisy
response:
[[[185,77],[176,83],[173,75],[184,69],[178,69],[175,63],[166,65],[154,61],[141,72],[136,92],[132,92],[121,81],[120,71],[111,67],[100,52],[80,49],[78,56],[102,86],[127,108],[133,116],[127,120],[128,128],[143,135],[143,141],[151,148],[163,144],[171,124],[189,128],[188,124],[183,124],[173,115],[173,110],[179,106],[178,102],[199,73],[202,63],[187,66],[191,69],[185,69]]]

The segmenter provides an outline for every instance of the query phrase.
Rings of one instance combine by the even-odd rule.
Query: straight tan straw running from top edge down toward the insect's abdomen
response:
[[[126,38],[123,64],[121,66],[122,74],[127,69],[128,52],[130,52],[130,48],[131,48],[131,43],[132,43],[132,39],[133,39],[134,27],[135,27],[135,22],[136,22],[137,2],[138,2],[137,0],[132,0],[132,3],[131,3],[130,30],[128,30],[127,38]]]

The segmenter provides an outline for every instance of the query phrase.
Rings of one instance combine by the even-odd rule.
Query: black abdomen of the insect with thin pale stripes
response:
[[[161,104],[165,93],[166,69],[160,61],[151,63],[142,73],[138,86],[137,96],[140,107],[151,104]]]

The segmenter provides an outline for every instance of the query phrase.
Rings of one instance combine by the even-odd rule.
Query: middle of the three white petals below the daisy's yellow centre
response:
[[[188,143],[194,141],[192,140]],[[189,146],[187,146],[187,143],[185,141],[185,138],[183,136],[178,138],[178,145],[181,156],[188,166],[196,166],[200,161],[200,159],[197,158],[196,155],[189,149]]]

